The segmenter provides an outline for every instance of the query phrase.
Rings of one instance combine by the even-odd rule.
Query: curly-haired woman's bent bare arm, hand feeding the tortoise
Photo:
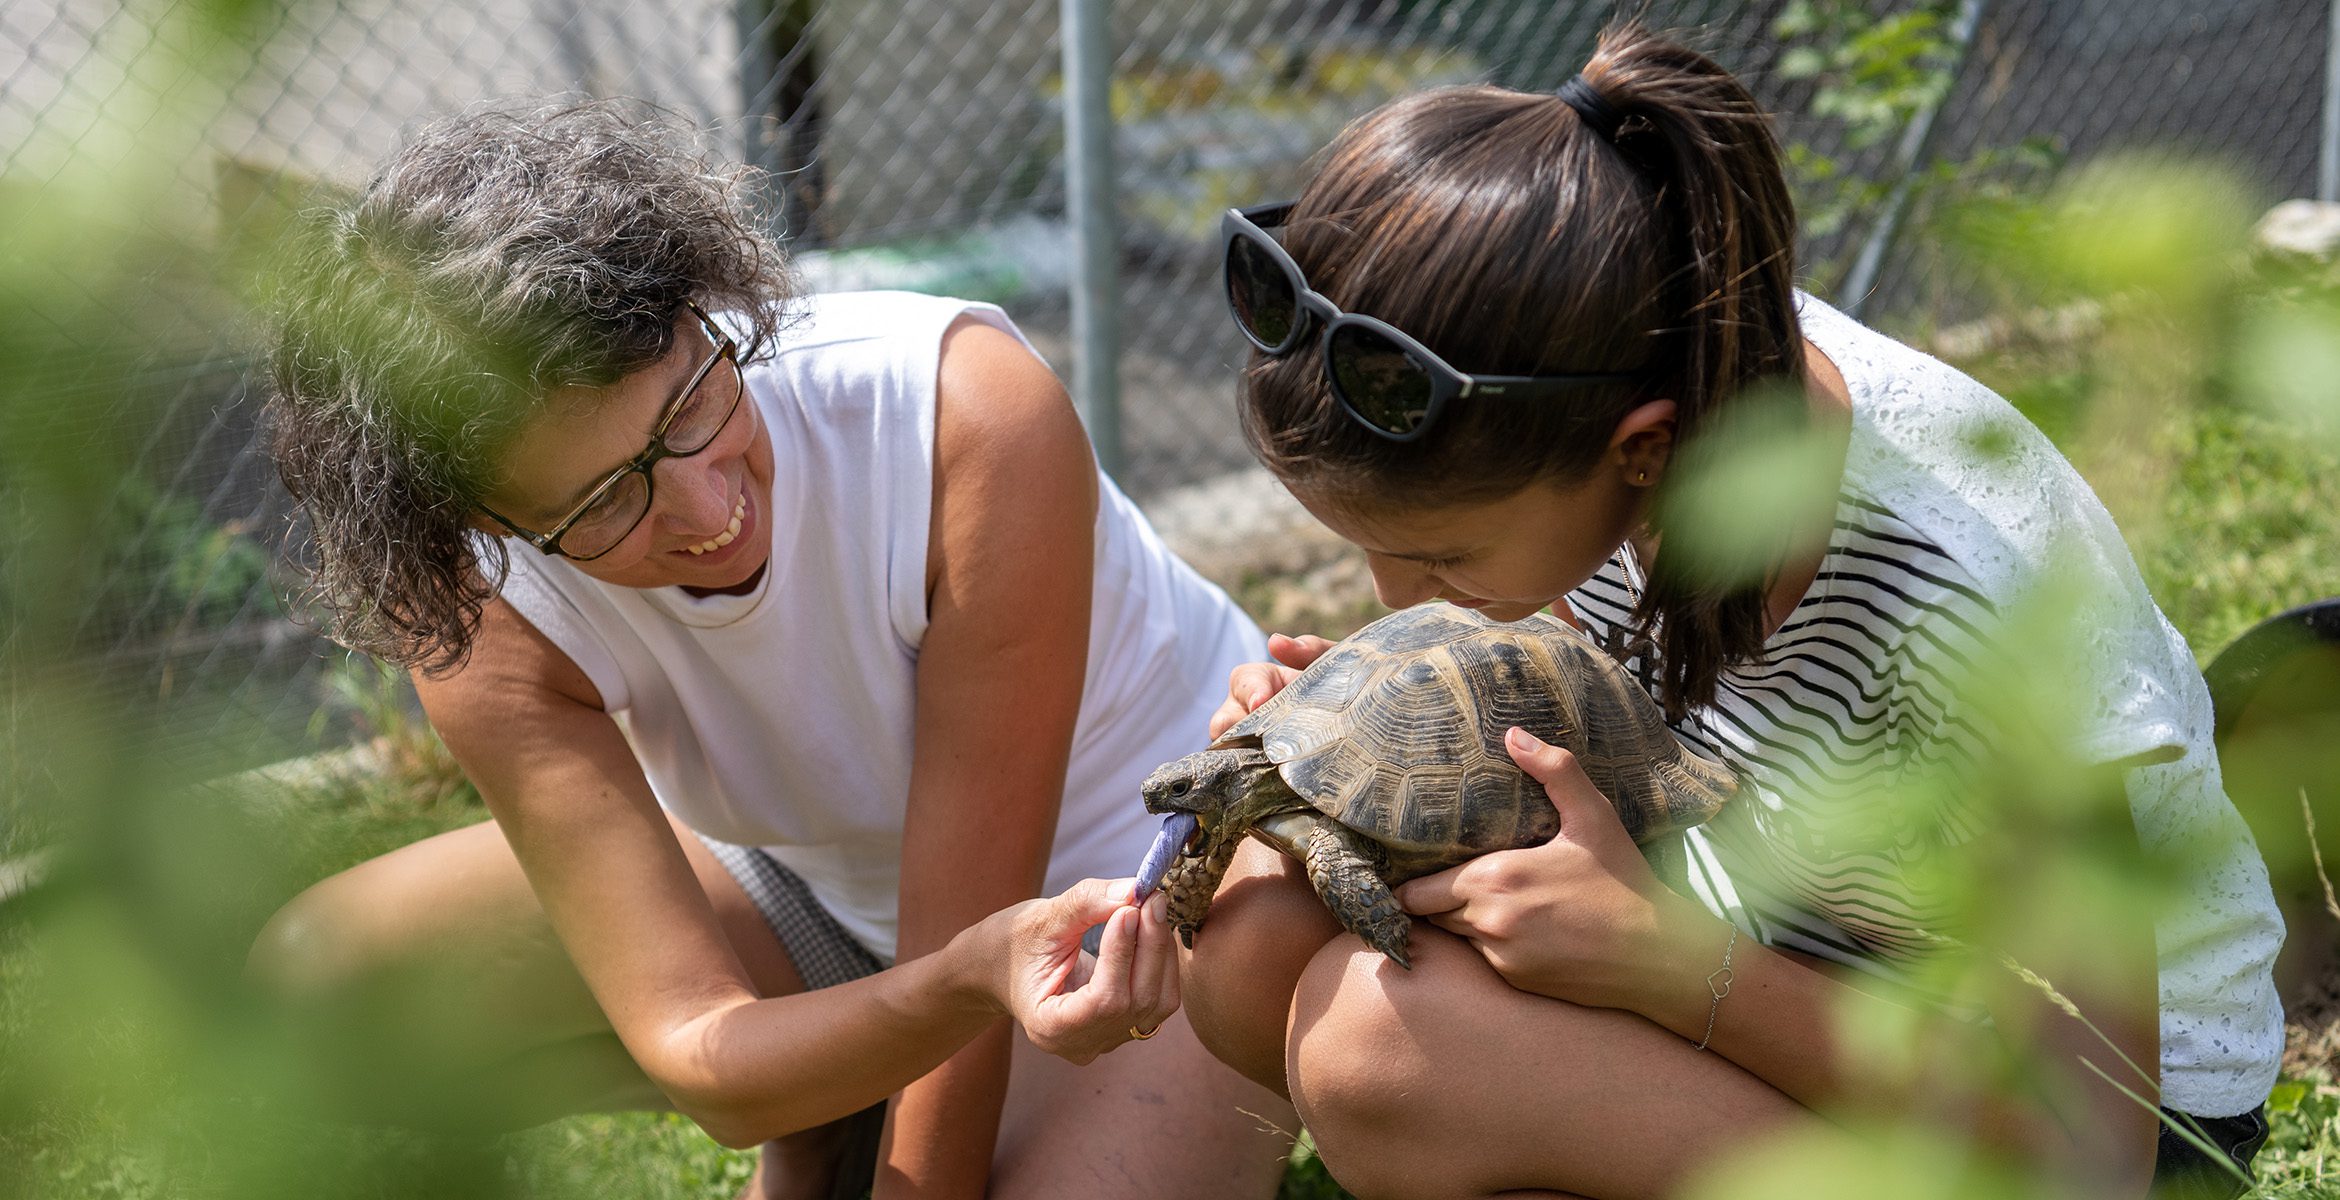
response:
[[[470,662],[419,678],[417,690],[627,1053],[728,1146],[819,1125],[922,1076],[992,1027],[1009,996],[1034,1001],[1067,982],[1025,971],[1044,964],[1046,938],[1076,938],[1119,908],[1104,884],[1076,889],[880,975],[758,999],[625,737],[583,671],[534,625],[491,604]],[[1158,924],[1114,917],[1109,940],[1123,933],[1123,966],[1165,952]],[[1112,1041],[1095,1029],[1119,1032],[1121,1008],[1137,1020],[1168,1008],[1161,996],[1104,992],[1081,999],[1102,1004],[1102,1015],[1060,1006],[1062,1029],[1044,1034],[1051,1048],[1097,1053]]]

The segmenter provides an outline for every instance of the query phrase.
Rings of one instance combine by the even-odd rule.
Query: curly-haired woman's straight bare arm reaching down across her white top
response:
[[[1088,435],[1016,337],[959,318],[936,409],[903,957],[948,945],[1046,877],[1088,664],[1097,519]],[[913,1083],[878,1195],[983,1195],[1006,1076],[1009,1036],[992,1029]]]

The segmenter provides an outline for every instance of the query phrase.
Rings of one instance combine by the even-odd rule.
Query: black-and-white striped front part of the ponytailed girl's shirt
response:
[[[1612,646],[1640,585],[1638,564],[1617,557],[1570,601]],[[1959,912],[1956,896],[1909,880],[1975,835],[1980,814],[1928,784],[1963,774],[1982,742],[1954,697],[1994,620],[1940,545],[1839,496],[1821,571],[1762,660],[1725,671],[1715,702],[1675,723],[1746,781],[1746,800],[1689,840],[1701,898],[1767,945],[1909,985],[1928,936],[1952,933]],[[1654,692],[1647,655],[1626,667]],[[1942,802],[1900,805],[1909,786]]]

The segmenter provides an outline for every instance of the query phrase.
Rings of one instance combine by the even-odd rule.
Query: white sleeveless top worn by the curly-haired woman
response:
[[[927,634],[934,379],[962,313],[1016,332],[990,304],[819,295],[744,367],[772,440],[772,564],[751,594],[615,587],[505,543],[503,599],[592,678],[658,802],[770,851],[885,959]],[[1137,870],[1158,826],[1137,784],[1200,749],[1226,674],[1266,657],[1221,589],[1102,475],[1097,491],[1088,678],[1048,891]],[[1002,681],[1002,702],[1011,690]]]

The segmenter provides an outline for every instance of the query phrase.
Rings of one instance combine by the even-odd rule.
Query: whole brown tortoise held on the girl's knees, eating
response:
[[[1341,926],[1411,968],[1395,884],[1558,833],[1542,784],[1505,751],[1512,725],[1575,753],[1636,842],[1706,821],[1736,791],[1568,622],[1423,604],[1336,643],[1210,749],[1147,777],[1144,805],[1168,819],[1140,898],[1168,870],[1170,924],[1191,947],[1252,835],[1308,868]]]

